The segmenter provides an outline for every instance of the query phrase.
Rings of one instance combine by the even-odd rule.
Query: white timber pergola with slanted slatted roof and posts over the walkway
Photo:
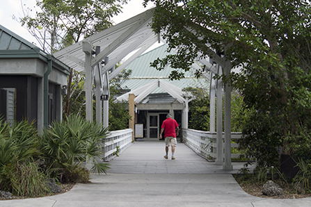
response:
[[[86,83],[84,89],[86,91],[86,119],[93,120],[93,104],[92,104],[92,88],[95,85],[96,97],[96,120],[104,126],[108,126],[108,99],[109,99],[109,81],[118,73],[125,69],[133,60],[149,49],[156,42],[166,41],[161,38],[160,34],[154,34],[149,24],[152,22],[152,16],[155,8],[145,11],[135,17],[127,19],[120,24],[106,28],[104,31],[97,33],[77,42],[76,44],[66,47],[61,51],[54,53],[54,56],[66,65],[72,67],[78,72],[86,74]],[[223,165],[224,170],[232,170],[231,164],[231,91],[232,88],[228,84],[223,84],[221,80],[214,80],[215,74],[230,74],[231,63],[224,57],[218,56],[212,49],[210,57],[216,64],[209,63],[209,59],[200,58],[198,62],[205,65],[206,72],[202,71],[202,67],[193,64],[194,69],[198,69],[203,76],[210,82],[211,99],[211,126],[210,131],[215,132],[215,94],[217,97],[223,97],[223,88],[225,92],[225,162],[223,162],[223,140],[222,140],[222,99],[217,99],[217,158],[216,165]],[[130,55],[130,56],[129,56]],[[120,60],[127,56],[122,65],[113,70],[114,65],[120,63]],[[213,63],[214,63],[213,62]],[[112,72],[109,73],[109,70]],[[165,81],[156,80],[154,85],[161,85],[178,101],[183,101],[186,106],[188,99],[182,98],[182,92],[178,88],[173,88],[164,83]],[[157,86],[158,87],[158,86]],[[136,95],[135,101],[142,101],[143,98],[150,93],[149,90],[141,88],[142,91],[132,92]],[[103,101],[102,101],[103,100]],[[104,104],[104,105],[102,105]],[[103,112],[104,110],[104,112]],[[102,117],[102,112],[104,116]],[[187,116],[187,107],[184,115]],[[186,119],[188,120],[188,119]],[[188,124],[184,125],[188,126]]]

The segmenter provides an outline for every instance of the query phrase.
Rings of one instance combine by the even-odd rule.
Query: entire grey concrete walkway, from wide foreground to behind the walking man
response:
[[[64,194],[38,199],[0,201],[1,207],[60,206],[247,206],[310,207],[311,198],[262,199],[246,194],[232,172],[208,163],[178,143],[176,160],[166,160],[164,142],[136,142],[111,160],[108,174],[94,174]]]

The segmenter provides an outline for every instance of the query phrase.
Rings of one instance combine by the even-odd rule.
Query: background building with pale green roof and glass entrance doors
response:
[[[130,90],[118,97],[119,101],[129,101],[129,94],[134,94],[135,124],[143,126],[144,140],[159,140],[161,124],[170,113],[183,128],[187,120],[188,110],[187,87],[208,88],[207,79],[195,78],[195,69],[185,72],[184,78],[171,81],[168,76],[173,71],[169,65],[161,71],[150,67],[157,58],[168,55],[165,44],[139,56],[126,68],[131,69],[131,75],[122,83],[122,88]],[[136,140],[137,140],[136,136]]]

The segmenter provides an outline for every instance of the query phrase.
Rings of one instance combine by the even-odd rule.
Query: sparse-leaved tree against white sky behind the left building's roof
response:
[[[32,9],[24,9],[20,18],[45,51],[58,51],[112,26],[113,15],[121,12],[127,0],[36,0],[35,17]]]

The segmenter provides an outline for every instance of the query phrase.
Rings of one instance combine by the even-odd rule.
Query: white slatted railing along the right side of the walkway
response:
[[[241,138],[241,135],[242,133],[232,132],[231,139],[239,139]],[[193,149],[193,151],[196,151],[197,154],[200,154],[209,160],[216,160],[217,133],[211,133],[209,131],[198,131],[195,129],[182,129],[182,141],[191,149]],[[237,148],[238,144],[231,143],[231,147]],[[241,154],[231,154],[231,158],[239,158],[240,155]]]

